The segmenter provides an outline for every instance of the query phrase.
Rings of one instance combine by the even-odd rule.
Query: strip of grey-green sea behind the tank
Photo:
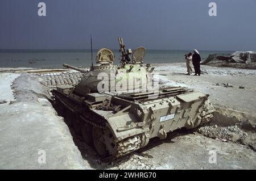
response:
[[[192,50],[147,50],[143,61],[145,64],[162,64],[185,62],[184,55]],[[119,64],[120,53],[113,50],[114,64]],[[233,51],[199,50],[201,59],[209,54],[232,54]],[[88,67],[96,62],[97,50],[0,50],[0,68],[63,68],[63,64]]]

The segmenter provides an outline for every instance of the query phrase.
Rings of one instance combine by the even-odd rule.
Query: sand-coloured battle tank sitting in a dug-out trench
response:
[[[192,129],[212,118],[207,94],[185,87],[160,89],[154,68],[143,64],[146,49],[132,52],[118,38],[120,64],[108,48],[98,50],[96,64],[84,70],[76,86],[52,91],[57,112],[67,118],[86,144],[102,158],[117,158],[143,148],[151,138],[176,129]]]

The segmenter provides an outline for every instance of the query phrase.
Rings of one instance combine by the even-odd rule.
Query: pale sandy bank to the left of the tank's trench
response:
[[[7,101],[0,104],[0,169],[88,168],[38,81],[24,73],[2,73],[0,83],[1,100]],[[44,153],[46,162],[40,157]]]

